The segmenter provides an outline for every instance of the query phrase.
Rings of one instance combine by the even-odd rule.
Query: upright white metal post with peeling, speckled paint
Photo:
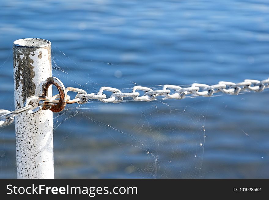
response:
[[[27,38],[13,43],[15,109],[29,96],[42,95],[42,84],[51,77],[50,41]],[[47,95],[52,96],[51,87]],[[34,107],[38,102],[31,102]],[[41,110],[15,117],[17,178],[54,178],[53,112]]]

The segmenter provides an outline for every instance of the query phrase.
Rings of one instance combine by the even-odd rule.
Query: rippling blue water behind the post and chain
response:
[[[0,107],[14,109],[20,38],[50,40],[53,76],[90,93],[267,79],[268,30],[264,0],[2,0]],[[68,105],[54,115],[55,177],[269,178],[268,95]],[[0,178],[15,177],[13,124]]]

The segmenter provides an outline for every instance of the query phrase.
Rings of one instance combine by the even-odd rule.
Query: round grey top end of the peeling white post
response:
[[[24,38],[24,39],[15,40],[13,42],[14,47],[38,48],[38,47],[47,47],[50,45],[51,45],[50,41],[39,39],[39,38]]]

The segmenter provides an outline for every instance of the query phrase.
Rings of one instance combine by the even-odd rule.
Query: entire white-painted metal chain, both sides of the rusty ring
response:
[[[245,79],[240,83],[226,82],[220,81],[215,85],[206,85],[193,83],[190,87],[182,88],[177,85],[164,85],[161,90],[152,90],[151,88],[142,87],[142,86],[134,86],[131,92],[121,92],[117,88],[110,87],[101,87],[98,92],[93,92],[87,94],[85,90],[79,88],[65,88],[65,91],[76,92],[77,95],[75,99],[70,100],[70,96],[66,95],[66,103],[73,104],[79,103],[84,104],[89,100],[99,100],[104,103],[118,103],[122,102],[123,98],[133,98],[134,101],[152,101],[156,97],[162,96],[163,98],[171,98],[171,99],[182,99],[187,96],[205,96],[210,97],[218,92],[223,92],[230,95],[238,95],[240,92],[244,91],[255,91],[261,92],[264,89],[269,88],[269,78],[259,81],[259,80],[251,80]],[[109,98],[103,93],[103,91],[110,91],[112,94]],[[143,95],[140,96],[140,93],[137,91],[143,91]],[[57,105],[59,103],[60,95],[55,95],[51,98],[47,96],[32,96],[26,99],[24,103],[24,107],[17,109],[15,111],[8,110],[0,110],[0,127],[7,126],[11,124],[14,120],[14,117],[22,112],[26,112],[27,114],[34,114],[40,110],[51,109],[52,105]],[[32,105],[29,105],[31,101],[39,100],[39,106],[33,109]]]

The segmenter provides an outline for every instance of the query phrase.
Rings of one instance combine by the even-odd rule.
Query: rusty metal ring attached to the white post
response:
[[[42,85],[44,96],[48,96],[47,92],[50,85],[55,85],[55,87],[59,91],[59,96],[60,96],[59,103],[57,103],[57,105],[51,105],[51,109],[50,109],[52,112],[58,113],[62,111],[66,105],[66,102],[67,102],[66,91],[64,88],[64,84],[61,82],[61,80],[59,80],[56,77],[49,77],[44,81],[44,84]]]

